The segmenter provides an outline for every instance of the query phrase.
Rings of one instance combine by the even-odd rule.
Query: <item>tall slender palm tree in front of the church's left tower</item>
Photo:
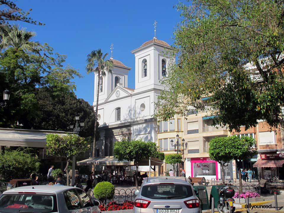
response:
[[[100,88],[100,77],[101,75],[106,75],[106,72],[112,72],[113,62],[111,60],[105,60],[108,53],[103,54],[101,52],[101,49],[93,50],[90,54],[87,56],[87,65],[86,65],[86,71],[87,74],[90,74],[91,72],[98,73],[98,82],[97,82],[97,103],[96,103],[96,118],[95,118],[95,133],[94,133],[94,143],[93,143],[93,154],[92,156],[95,157],[95,151],[96,151],[96,134],[97,134],[97,115],[98,115],[98,105],[99,105],[99,88]],[[93,167],[92,167],[93,170]]]

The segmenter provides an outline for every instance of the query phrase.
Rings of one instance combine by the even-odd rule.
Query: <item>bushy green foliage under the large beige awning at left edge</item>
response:
[[[5,179],[23,179],[36,173],[40,166],[37,156],[18,150],[5,150],[0,153],[0,172]]]

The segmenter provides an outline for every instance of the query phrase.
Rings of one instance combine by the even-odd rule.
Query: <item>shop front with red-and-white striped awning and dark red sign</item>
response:
[[[276,176],[280,180],[283,180],[283,164],[284,153],[267,153],[260,154],[260,159],[254,163],[253,167],[259,167],[259,172],[263,179],[269,179]]]

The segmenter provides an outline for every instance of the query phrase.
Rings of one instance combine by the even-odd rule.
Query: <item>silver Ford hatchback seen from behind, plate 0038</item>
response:
[[[201,213],[200,200],[188,178],[145,178],[132,213]]]

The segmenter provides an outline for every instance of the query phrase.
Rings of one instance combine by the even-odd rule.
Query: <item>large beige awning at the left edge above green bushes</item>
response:
[[[66,132],[0,128],[0,146],[44,148],[47,134],[66,135]]]

